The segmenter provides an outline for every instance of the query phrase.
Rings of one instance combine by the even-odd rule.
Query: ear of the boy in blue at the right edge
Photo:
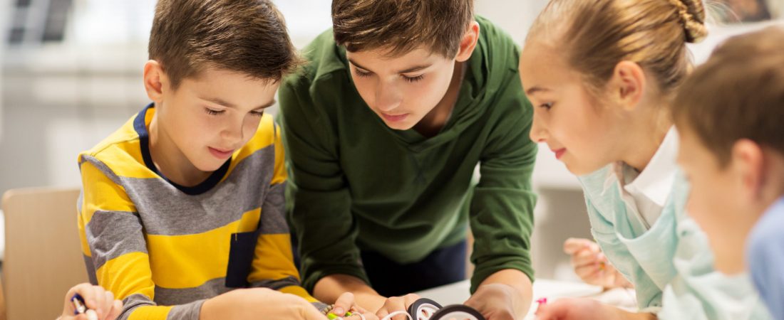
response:
[[[764,152],[760,145],[749,139],[740,139],[732,145],[732,170],[742,186],[742,196],[759,200],[765,184]]]

